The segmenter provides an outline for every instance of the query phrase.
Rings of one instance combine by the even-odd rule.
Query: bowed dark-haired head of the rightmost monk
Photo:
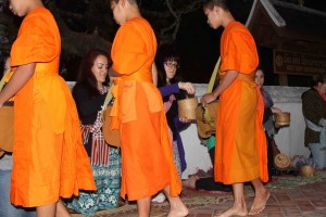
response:
[[[225,27],[234,17],[229,11],[228,0],[208,0],[203,5],[203,11],[208,16],[209,25],[217,29]]]

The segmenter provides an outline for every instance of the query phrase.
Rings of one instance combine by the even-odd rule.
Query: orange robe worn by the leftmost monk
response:
[[[59,76],[61,39],[45,8],[24,18],[11,50],[13,67],[36,63],[15,95],[11,202],[25,207],[96,190],[75,102]]]

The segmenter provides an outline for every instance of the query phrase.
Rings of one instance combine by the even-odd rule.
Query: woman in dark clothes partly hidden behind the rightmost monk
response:
[[[263,125],[266,135],[267,141],[267,167],[268,167],[268,180],[272,180],[272,176],[277,175],[277,170],[274,167],[274,154],[273,154],[273,140],[274,136],[278,132],[279,126],[275,123],[275,113],[281,113],[281,110],[274,106],[274,102],[269,95],[269,93],[263,88],[265,76],[264,72],[261,68],[258,68],[255,72],[255,82],[261,89],[261,93],[264,100],[264,117]]]

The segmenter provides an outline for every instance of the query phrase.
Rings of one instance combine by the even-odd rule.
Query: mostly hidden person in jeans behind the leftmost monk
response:
[[[4,59],[4,71],[3,76],[4,81],[8,79],[5,75],[9,76],[10,72],[10,58]],[[4,84],[3,84],[4,85]],[[1,89],[2,84],[0,85]],[[10,203],[10,177],[12,170],[12,153],[4,152],[1,150],[2,144],[0,144],[0,216],[5,217],[35,217],[36,213],[34,208],[25,209],[22,207],[16,207]],[[4,148],[2,148],[4,149]]]

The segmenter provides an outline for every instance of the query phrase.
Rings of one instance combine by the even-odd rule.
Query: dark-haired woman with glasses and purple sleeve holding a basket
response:
[[[187,164],[180,131],[189,127],[190,120],[178,116],[177,100],[185,98],[185,92],[181,90],[185,90],[188,94],[195,94],[196,90],[191,82],[181,81],[181,76],[178,72],[179,56],[172,48],[162,48],[161,55],[158,56],[158,87],[163,97],[164,111],[173,144],[174,163],[181,179]],[[163,193],[159,193],[152,199],[152,202],[155,203],[163,203],[164,201],[165,195]]]

